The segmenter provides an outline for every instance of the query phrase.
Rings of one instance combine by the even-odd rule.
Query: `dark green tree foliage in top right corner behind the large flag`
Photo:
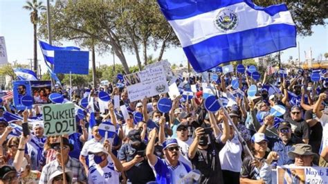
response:
[[[300,1],[300,0],[254,0],[259,6],[271,6],[277,3],[286,3],[298,33],[302,36],[312,35],[314,25],[325,25],[328,17],[327,1]]]

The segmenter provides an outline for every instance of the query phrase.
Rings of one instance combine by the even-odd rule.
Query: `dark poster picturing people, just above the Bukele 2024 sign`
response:
[[[51,94],[50,80],[31,80],[30,89],[33,93],[35,104],[48,104],[49,95]]]

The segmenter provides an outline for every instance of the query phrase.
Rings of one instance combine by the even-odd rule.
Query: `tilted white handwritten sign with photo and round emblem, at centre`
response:
[[[144,71],[131,73],[124,76],[127,93],[131,102],[167,93],[165,70],[163,66],[148,68]]]

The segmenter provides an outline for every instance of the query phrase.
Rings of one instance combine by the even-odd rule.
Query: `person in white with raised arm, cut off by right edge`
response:
[[[316,113],[316,116],[317,116],[317,118],[319,118],[319,122],[321,122],[321,125],[323,127],[320,153],[323,148],[328,146],[328,134],[327,134],[327,132],[328,132],[328,115],[325,113],[322,113],[322,109],[324,109],[322,102],[324,100],[325,101],[327,100],[327,94],[320,93],[319,99],[317,100],[316,104],[314,104],[314,108],[313,108],[313,113]]]

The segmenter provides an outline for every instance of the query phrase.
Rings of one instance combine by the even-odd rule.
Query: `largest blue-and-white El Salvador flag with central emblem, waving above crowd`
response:
[[[262,8],[250,0],[158,0],[197,72],[224,62],[296,46],[285,4]]]

